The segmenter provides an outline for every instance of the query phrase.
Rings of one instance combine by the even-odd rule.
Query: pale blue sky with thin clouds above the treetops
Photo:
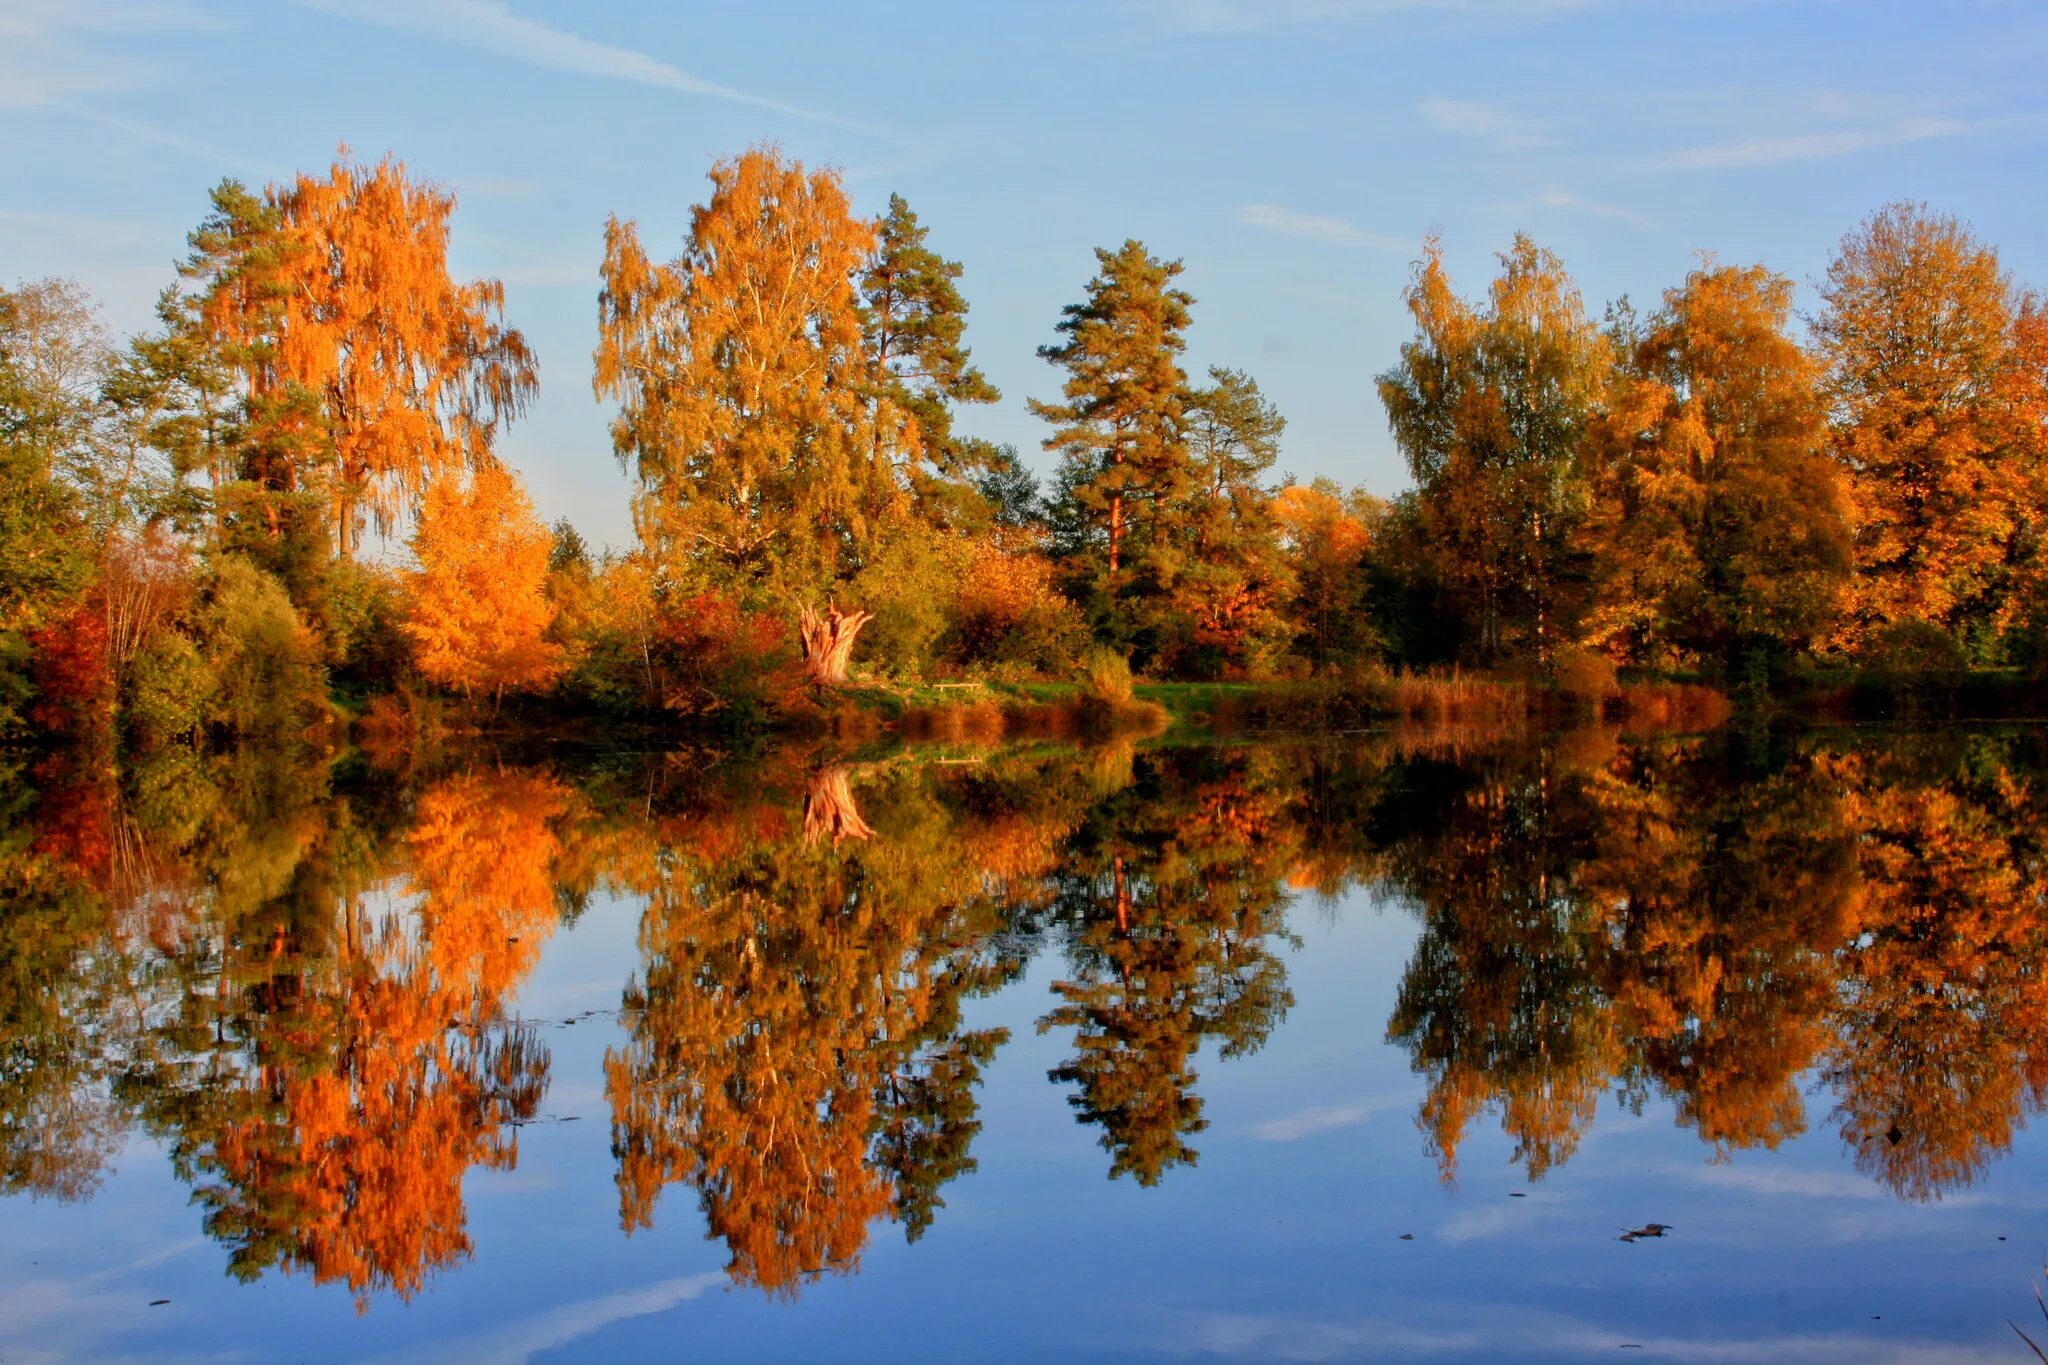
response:
[[[967,264],[1006,395],[971,432],[1044,467],[1034,348],[1090,248],[1141,237],[1186,260],[1190,366],[1288,415],[1282,469],[1395,493],[1372,375],[1425,231],[1479,291],[1526,229],[1597,311],[1700,250],[1806,282],[1907,196],[2048,284],[2044,59],[2038,0],[0,0],[0,278],[78,276],[133,329],[215,180],[395,151],[541,354],[504,452],[623,544],[600,227],[674,248],[711,160],[776,139]]]

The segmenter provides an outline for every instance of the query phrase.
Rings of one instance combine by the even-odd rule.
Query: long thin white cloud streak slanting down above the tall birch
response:
[[[551,72],[573,72],[600,80],[623,80],[635,86],[657,90],[678,90],[700,94],[713,100],[731,100],[770,108],[793,119],[815,123],[838,123],[856,127],[846,119],[823,115],[813,108],[799,108],[760,94],[721,86],[715,80],[690,76],[688,72],[651,57],[631,47],[614,47],[578,37],[539,18],[514,14],[502,0],[293,0],[299,8],[352,18],[381,29],[401,29],[424,33],[446,43],[475,47],[510,61],[547,68]]]

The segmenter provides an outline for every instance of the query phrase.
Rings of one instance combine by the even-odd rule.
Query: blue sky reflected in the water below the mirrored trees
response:
[[[1804,1136],[1724,1160],[1669,1101],[1634,1115],[1610,1093],[1542,1181],[1481,1119],[1446,1187],[1413,1121],[1423,1081],[1384,1042],[1415,917],[1305,896],[1290,929],[1296,1003],[1272,1040],[1196,1056],[1198,1166],[1155,1189],[1106,1179],[1100,1130],[1047,1081],[1073,1040],[1034,1027],[1067,974],[1042,952],[967,1007],[969,1027],[1012,1031],[979,1093],[979,1173],[944,1187],[922,1242],[877,1224],[858,1275],[791,1304],[727,1289],[688,1185],[651,1230],[618,1232],[602,1056],[621,1033],[610,1013],[559,1023],[616,1007],[639,966],[639,907],[598,898],[518,993],[518,1013],[555,1021],[553,1083],[518,1166],[465,1179],[473,1261],[362,1316],[305,1275],[238,1285],[137,1140],[90,1203],[0,1203],[0,1357],[2015,1359],[2005,1318],[2030,1326],[2048,1246],[2030,1136],[1919,1205],[1851,1169],[1825,1091],[1806,1091]],[[1616,1240],[1653,1220],[1671,1236]]]

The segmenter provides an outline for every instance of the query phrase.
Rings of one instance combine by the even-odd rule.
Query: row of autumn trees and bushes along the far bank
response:
[[[539,372],[502,287],[451,278],[453,207],[391,160],[223,182],[121,344],[72,282],[0,293],[6,731],[150,749],[508,694],[754,722],[850,665],[1763,694],[2048,663],[2048,313],[1919,205],[1843,237],[1806,323],[1765,266],[1593,317],[1526,237],[1479,297],[1425,244],[1378,377],[1413,487],[1382,501],[1278,479],[1284,417],[1184,368],[1194,299],[1139,241],[1040,350],[1040,485],[961,432],[999,395],[915,213],[754,149],[672,258],[604,229],[592,383],[635,481],[606,555],[496,454]]]

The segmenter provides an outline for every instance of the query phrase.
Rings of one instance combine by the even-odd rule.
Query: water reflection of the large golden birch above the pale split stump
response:
[[[807,774],[801,821],[764,786],[647,831],[645,962],[604,1089],[623,1226],[682,1181],[733,1281],[795,1293],[852,1271],[889,1214],[920,1232],[973,1169],[971,1091],[1001,1031],[965,1029],[961,1001],[1020,964],[913,782],[877,808],[844,772]]]

